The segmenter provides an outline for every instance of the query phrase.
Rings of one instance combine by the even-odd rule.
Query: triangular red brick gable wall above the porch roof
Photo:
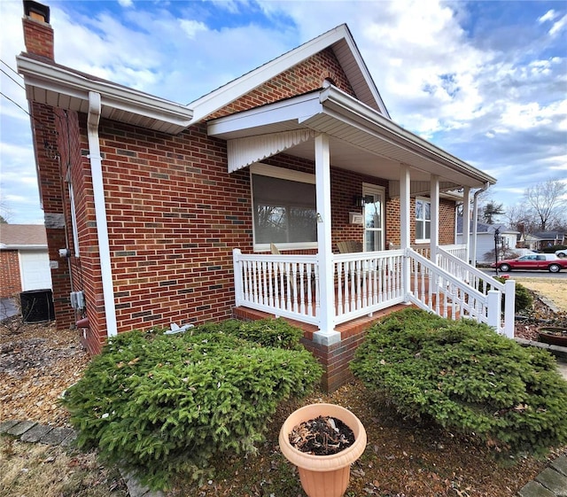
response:
[[[325,79],[332,80],[338,89],[356,97],[352,86],[346,79],[345,72],[335,57],[335,53],[331,49],[326,49],[282,74],[278,74],[269,82],[261,84],[257,89],[253,89],[244,97],[238,98],[210,117],[219,118],[320,89]]]

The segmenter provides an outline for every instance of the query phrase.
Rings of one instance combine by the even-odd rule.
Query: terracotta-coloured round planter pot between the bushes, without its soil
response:
[[[306,454],[293,447],[289,435],[299,423],[317,416],[331,416],[345,423],[354,433],[354,443],[338,454]],[[279,436],[280,449],[299,470],[301,486],[308,497],[342,497],[351,474],[351,464],[366,448],[366,431],[361,421],[346,408],[335,404],[310,404],[299,408],[283,423]]]

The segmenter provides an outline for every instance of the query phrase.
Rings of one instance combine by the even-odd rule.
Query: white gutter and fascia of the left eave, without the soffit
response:
[[[66,71],[61,66],[53,66],[21,55],[16,59],[18,72],[24,75],[26,84],[38,88],[57,91],[85,101],[89,100],[89,91],[94,91],[101,95],[103,105],[151,119],[163,120],[182,128],[189,126],[193,116],[189,107],[164,98],[154,97],[112,82],[89,80],[81,74]]]

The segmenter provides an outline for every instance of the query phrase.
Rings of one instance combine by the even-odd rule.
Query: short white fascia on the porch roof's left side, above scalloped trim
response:
[[[212,120],[207,125],[207,134],[219,136],[243,129],[268,126],[277,122],[300,122],[321,112],[322,105],[319,101],[319,93],[314,92]]]

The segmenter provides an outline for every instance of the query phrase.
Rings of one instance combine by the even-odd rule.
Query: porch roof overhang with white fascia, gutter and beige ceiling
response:
[[[228,140],[236,145],[233,148],[239,141],[244,142],[242,138],[265,136],[268,143],[270,135],[306,129],[330,137],[332,167],[397,181],[400,164],[408,164],[412,181],[430,181],[431,175],[439,175],[447,190],[461,186],[480,188],[486,182],[496,182],[334,87],[208,123],[209,136]],[[294,143],[285,153],[315,160],[314,139]],[[257,159],[263,157],[267,155],[260,154]],[[229,168],[236,170],[248,165],[235,163],[229,164]]]

